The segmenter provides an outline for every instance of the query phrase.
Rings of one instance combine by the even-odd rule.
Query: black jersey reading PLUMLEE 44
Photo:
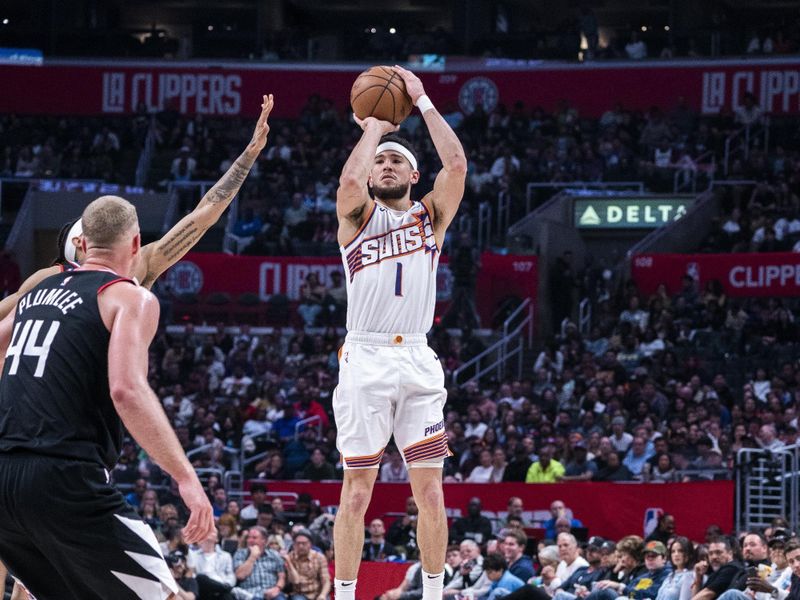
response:
[[[64,271],[20,299],[0,379],[0,452],[116,464],[122,423],[97,296],[119,281],[130,282],[108,271]]]

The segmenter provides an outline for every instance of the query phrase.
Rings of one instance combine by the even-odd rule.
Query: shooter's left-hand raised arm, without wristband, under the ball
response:
[[[339,241],[351,237],[350,228],[355,231],[361,225],[364,206],[369,200],[367,182],[369,172],[375,163],[375,149],[381,137],[397,130],[397,126],[388,121],[379,121],[367,117],[363,121],[354,117],[364,133],[353,148],[347,162],[342,167],[339,177],[339,189],[336,190],[336,215],[339,217]]]

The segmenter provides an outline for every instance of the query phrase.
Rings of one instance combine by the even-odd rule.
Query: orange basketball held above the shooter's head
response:
[[[406,84],[390,67],[371,67],[353,82],[350,106],[359,119],[375,117],[399,125],[414,104],[406,92]]]

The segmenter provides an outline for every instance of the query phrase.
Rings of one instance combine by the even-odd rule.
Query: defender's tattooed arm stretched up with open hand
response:
[[[265,95],[261,104],[253,137],[227,172],[206,192],[197,207],[178,221],[160,240],[142,248],[142,259],[136,276],[144,287],[150,288],[156,279],[178,262],[203,237],[228,208],[242,187],[258,155],[267,144],[273,106],[272,94]]]

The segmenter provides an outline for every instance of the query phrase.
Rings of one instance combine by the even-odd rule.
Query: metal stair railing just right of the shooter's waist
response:
[[[514,322],[522,315],[525,316],[517,325],[514,325]],[[453,371],[451,375],[453,384],[462,386],[469,381],[478,380],[492,371],[497,374],[498,378],[502,379],[505,376],[507,362],[514,357],[517,358],[517,374],[521,374],[522,359],[525,351],[523,334],[525,333],[527,333],[528,346],[530,347],[533,343],[533,301],[530,298],[526,298],[521,302],[503,322],[503,337]],[[491,362],[482,364],[487,360]],[[459,383],[461,376],[471,370],[474,370],[472,377],[463,383]]]

